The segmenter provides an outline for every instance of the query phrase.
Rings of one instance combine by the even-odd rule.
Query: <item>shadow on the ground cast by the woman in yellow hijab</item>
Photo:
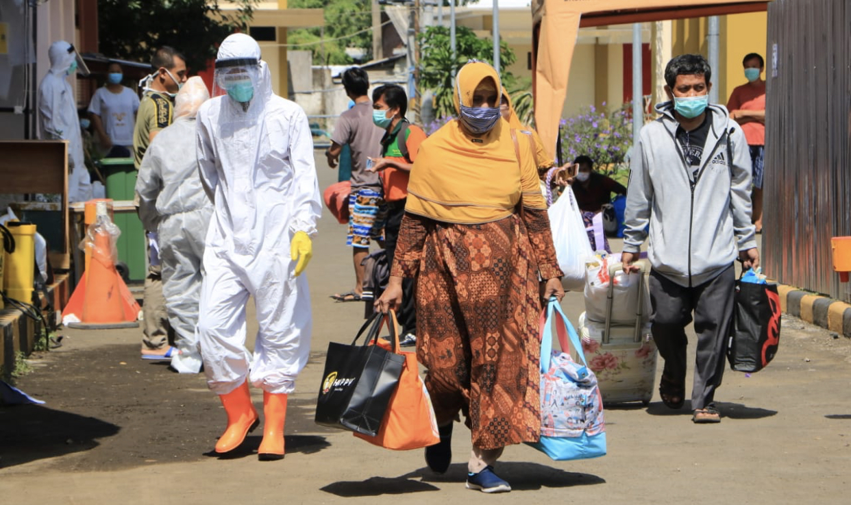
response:
[[[513,491],[535,491],[542,487],[563,488],[606,482],[590,473],[565,472],[559,468],[530,462],[498,462],[496,472],[511,483]],[[439,491],[440,487],[437,485],[464,485],[466,479],[466,463],[455,463],[442,475],[433,473],[428,468],[419,468],[398,477],[371,477],[366,480],[334,482],[323,487],[322,491],[346,498],[398,495]]]

